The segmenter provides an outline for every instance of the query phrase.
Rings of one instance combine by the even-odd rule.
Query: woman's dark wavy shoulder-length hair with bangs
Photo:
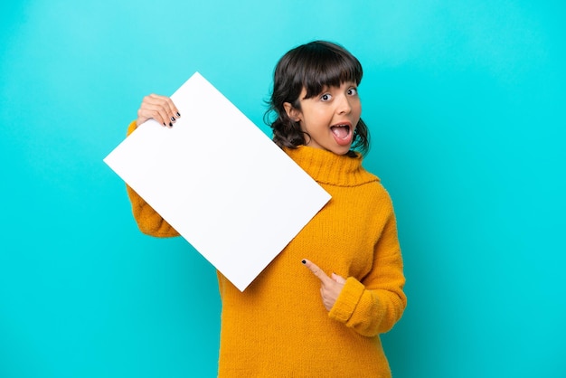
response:
[[[305,99],[319,95],[325,87],[339,87],[346,81],[360,84],[362,64],[344,47],[325,41],[300,45],[278,61],[273,74],[273,91],[264,120],[273,130],[273,141],[280,147],[297,148],[306,145],[300,125],[289,118],[284,103],[300,110],[299,95],[307,90]],[[270,120],[270,115],[275,119]],[[356,125],[352,150],[364,155],[370,147],[369,130],[362,118]],[[354,156],[354,151],[348,154]]]

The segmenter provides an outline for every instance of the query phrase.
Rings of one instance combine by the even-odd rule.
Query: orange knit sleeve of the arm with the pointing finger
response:
[[[395,216],[384,225],[375,245],[373,270],[362,279],[349,277],[328,316],[360,335],[374,336],[391,330],[407,306],[403,293],[401,248]]]

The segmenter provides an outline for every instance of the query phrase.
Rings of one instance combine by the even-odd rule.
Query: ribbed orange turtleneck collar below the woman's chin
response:
[[[377,176],[363,168],[360,154],[355,157],[336,155],[310,146],[285,147],[283,150],[320,184],[357,186],[379,181]]]

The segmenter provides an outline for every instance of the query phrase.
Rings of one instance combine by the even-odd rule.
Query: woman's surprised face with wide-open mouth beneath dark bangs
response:
[[[350,151],[354,128],[362,115],[362,103],[355,82],[340,87],[327,87],[319,95],[305,99],[303,88],[299,96],[300,110],[285,103],[289,118],[299,123],[307,146],[325,149],[336,155]],[[310,137],[309,137],[310,136]]]

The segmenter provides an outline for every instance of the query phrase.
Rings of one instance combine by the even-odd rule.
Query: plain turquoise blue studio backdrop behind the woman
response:
[[[394,376],[566,376],[564,19],[559,1],[3,2],[0,376],[215,375],[214,270],[138,232],[102,158],[193,71],[269,132],[273,67],[313,39],[363,63],[365,166],[408,279]]]

